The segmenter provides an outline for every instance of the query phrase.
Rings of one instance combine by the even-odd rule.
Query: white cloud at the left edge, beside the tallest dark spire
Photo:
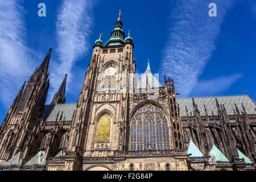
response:
[[[0,100],[9,107],[24,80],[31,75],[31,50],[26,46],[24,8],[20,1],[0,3]]]

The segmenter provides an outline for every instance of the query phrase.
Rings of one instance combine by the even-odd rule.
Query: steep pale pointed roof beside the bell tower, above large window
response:
[[[141,78],[139,79],[139,81],[137,82],[136,84],[136,88],[139,89],[139,88],[146,88],[147,86],[147,82],[148,82],[148,86],[150,88],[159,88],[159,87],[162,87],[162,85],[160,84],[160,82],[158,81],[158,78],[156,78],[150,70],[146,70]]]

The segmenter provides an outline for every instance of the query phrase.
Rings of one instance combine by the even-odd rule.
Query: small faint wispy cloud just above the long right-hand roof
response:
[[[205,96],[213,96],[218,94],[239,80],[243,75],[241,73],[234,74],[232,76],[222,76],[214,78],[212,80],[201,80],[197,83],[193,91]]]

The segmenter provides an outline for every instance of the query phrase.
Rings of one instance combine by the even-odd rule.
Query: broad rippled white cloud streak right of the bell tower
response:
[[[232,0],[214,2],[217,17],[208,16],[210,2],[206,0],[176,1],[171,9],[169,41],[163,51],[160,70],[174,78],[182,96],[189,96],[199,84],[199,76],[212,56],[225,13],[233,3]]]

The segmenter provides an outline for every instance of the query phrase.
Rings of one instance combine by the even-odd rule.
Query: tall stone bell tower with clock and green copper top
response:
[[[103,45],[101,36],[93,46],[92,59],[77,101],[66,152],[80,157],[108,156],[125,147],[129,92],[135,87],[133,39],[125,39],[121,11],[111,38]],[[85,151],[85,152],[84,152]],[[81,167],[79,160],[68,167]]]

